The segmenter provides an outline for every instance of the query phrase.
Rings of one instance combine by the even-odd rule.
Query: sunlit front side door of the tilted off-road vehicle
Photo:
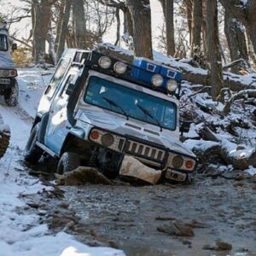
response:
[[[78,77],[79,68],[71,67],[57,90],[49,108],[49,121],[46,127],[44,144],[55,152],[55,154],[60,153],[61,145],[69,131],[68,127],[70,124],[67,120],[67,102],[69,96],[66,94],[66,90],[68,85],[75,83]]]

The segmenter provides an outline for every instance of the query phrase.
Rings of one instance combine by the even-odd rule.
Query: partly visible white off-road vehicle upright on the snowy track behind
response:
[[[9,32],[5,23],[0,22],[0,95],[8,106],[14,107],[18,103],[19,86],[17,70],[11,57],[11,50],[17,49],[16,44],[9,43]]]

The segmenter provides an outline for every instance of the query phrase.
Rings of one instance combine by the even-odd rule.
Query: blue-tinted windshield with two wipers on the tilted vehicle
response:
[[[176,130],[175,103],[105,79],[90,77],[84,102],[172,131]]]

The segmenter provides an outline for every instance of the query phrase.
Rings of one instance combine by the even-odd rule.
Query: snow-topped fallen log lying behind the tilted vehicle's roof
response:
[[[134,58],[131,50],[120,49],[112,44],[99,44],[95,50],[106,55],[112,55],[114,58],[128,63],[131,63]],[[206,69],[192,67],[188,63],[159,55],[157,52],[154,52],[154,60],[166,66],[181,70],[183,72],[183,80],[187,80],[191,84],[211,85],[210,74]],[[256,89],[256,75],[248,74],[241,76],[224,72],[224,87],[234,91]]]

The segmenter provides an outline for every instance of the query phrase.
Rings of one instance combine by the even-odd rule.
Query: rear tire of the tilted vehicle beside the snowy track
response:
[[[43,154],[43,150],[36,145],[38,140],[39,124],[35,125],[26,143],[24,158],[31,164],[37,164]]]

